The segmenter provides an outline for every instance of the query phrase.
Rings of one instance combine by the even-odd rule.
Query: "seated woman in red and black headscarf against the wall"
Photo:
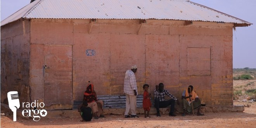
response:
[[[91,84],[90,81],[83,95],[83,101],[86,101],[88,103],[88,107],[92,108],[94,119],[99,119],[99,117],[104,117],[102,115],[104,103],[102,100],[97,99],[97,95],[93,88],[93,84]]]

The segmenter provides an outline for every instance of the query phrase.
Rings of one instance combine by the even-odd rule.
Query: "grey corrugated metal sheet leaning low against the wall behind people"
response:
[[[98,95],[99,100],[103,100],[104,108],[125,108],[125,95]],[[142,107],[143,95],[137,95],[137,107]],[[153,100],[151,101],[152,105]],[[74,101],[73,109],[77,109],[82,101]]]

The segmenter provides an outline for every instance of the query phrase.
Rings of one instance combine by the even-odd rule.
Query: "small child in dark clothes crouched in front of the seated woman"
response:
[[[83,101],[83,104],[78,107],[78,112],[80,112],[80,116],[83,119],[81,120],[82,122],[92,120],[92,109],[88,107],[87,101]]]

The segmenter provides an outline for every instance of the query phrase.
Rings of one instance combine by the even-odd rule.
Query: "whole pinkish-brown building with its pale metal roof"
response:
[[[36,0],[1,22],[1,102],[72,109],[90,80],[123,95],[136,64],[142,86],[175,97],[193,85],[208,106],[233,105],[233,28],[250,22],[187,0]]]

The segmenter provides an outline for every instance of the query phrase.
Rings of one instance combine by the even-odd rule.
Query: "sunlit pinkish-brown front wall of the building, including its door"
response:
[[[181,99],[183,90],[193,85],[207,105],[233,104],[231,23],[31,19],[29,25],[30,62],[23,72],[29,72],[31,100],[45,102],[49,109],[72,108],[73,101],[83,99],[88,80],[98,95],[123,95],[125,71],[135,64],[139,94],[145,83],[150,93],[164,83]],[[8,40],[2,45],[1,28],[1,55]],[[1,70],[1,84],[11,81],[2,81],[4,77]]]

